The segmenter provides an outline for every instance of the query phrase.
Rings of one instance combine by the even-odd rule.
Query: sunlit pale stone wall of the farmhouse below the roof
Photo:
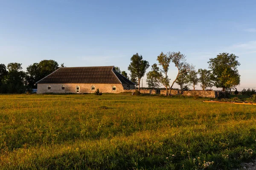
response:
[[[51,90],[48,90],[48,86],[51,86]],[[61,90],[61,87],[64,86],[65,90]],[[97,88],[102,93],[121,93],[124,92],[124,87],[122,84],[38,84],[38,94],[43,93],[76,93],[76,86],[79,86],[79,93],[94,93]],[[95,90],[92,90],[92,86],[95,87]],[[112,90],[112,87],[116,87],[116,91]],[[131,85],[131,88],[135,86]]]

